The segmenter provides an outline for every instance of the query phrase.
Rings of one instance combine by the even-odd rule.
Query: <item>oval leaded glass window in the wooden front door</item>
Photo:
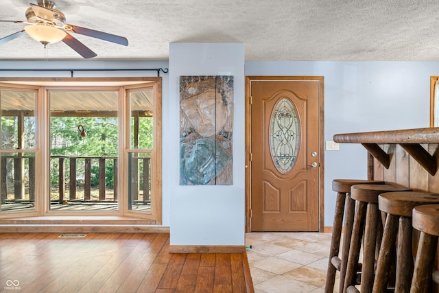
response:
[[[296,163],[300,145],[300,124],[296,107],[281,99],[270,121],[270,154],[279,172],[289,172]]]

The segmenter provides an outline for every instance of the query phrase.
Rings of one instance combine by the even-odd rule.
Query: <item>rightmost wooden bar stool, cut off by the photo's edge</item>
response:
[[[431,292],[431,280],[439,283],[433,269],[439,236],[439,204],[426,204],[412,211],[413,228],[420,231],[410,293]]]

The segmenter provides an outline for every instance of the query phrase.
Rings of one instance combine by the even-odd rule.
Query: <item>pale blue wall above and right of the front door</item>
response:
[[[324,141],[334,134],[429,127],[430,76],[439,62],[246,62],[246,75],[324,76]],[[324,152],[324,226],[332,226],[335,178],[367,178],[367,152]]]

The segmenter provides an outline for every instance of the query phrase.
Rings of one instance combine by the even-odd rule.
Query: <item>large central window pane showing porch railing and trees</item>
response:
[[[117,210],[118,93],[50,93],[51,210]]]

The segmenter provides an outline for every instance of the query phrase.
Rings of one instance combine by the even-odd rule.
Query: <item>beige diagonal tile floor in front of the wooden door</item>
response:
[[[246,245],[255,293],[324,292],[331,233],[246,233]]]

